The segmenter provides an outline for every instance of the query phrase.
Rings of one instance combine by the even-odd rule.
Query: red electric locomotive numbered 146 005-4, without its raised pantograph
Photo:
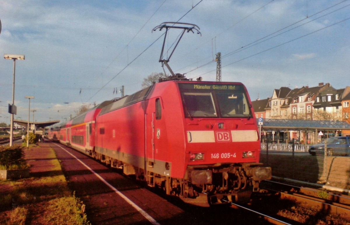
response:
[[[245,201],[271,179],[245,86],[178,74],[104,107],[92,154],[197,205]]]

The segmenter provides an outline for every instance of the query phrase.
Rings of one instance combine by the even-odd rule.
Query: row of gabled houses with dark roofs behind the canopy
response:
[[[252,101],[257,118],[311,119],[350,123],[350,87],[335,89],[329,83],[274,89],[272,97]]]

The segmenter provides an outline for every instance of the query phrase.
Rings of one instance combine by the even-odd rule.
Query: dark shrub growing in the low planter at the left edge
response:
[[[26,166],[24,159],[23,147],[13,145],[11,147],[0,146],[0,166],[4,169],[16,167],[23,168]]]

